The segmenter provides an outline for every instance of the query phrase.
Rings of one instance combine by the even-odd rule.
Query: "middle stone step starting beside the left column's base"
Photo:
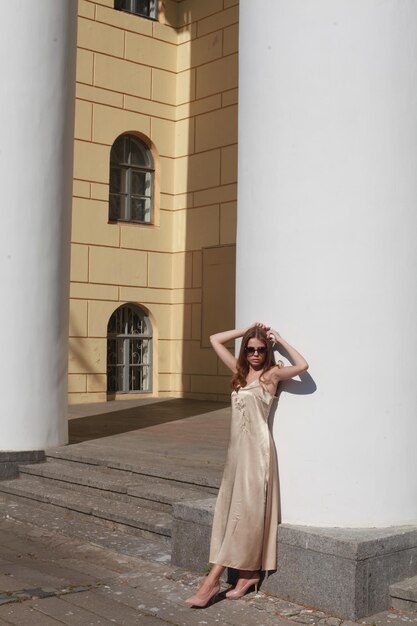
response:
[[[56,461],[20,466],[21,474],[45,479],[57,487],[80,490],[155,510],[171,511],[174,502],[200,500],[216,493],[214,488],[196,487],[119,469]],[[140,501],[140,502],[138,502]]]

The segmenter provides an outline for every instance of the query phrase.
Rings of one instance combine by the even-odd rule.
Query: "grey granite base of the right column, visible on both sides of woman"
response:
[[[172,563],[203,572],[215,498],[174,505]],[[417,525],[315,528],[281,524],[278,569],[262,590],[349,620],[391,606],[389,586],[417,574]]]

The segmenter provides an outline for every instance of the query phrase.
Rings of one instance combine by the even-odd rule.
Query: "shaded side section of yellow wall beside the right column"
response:
[[[185,213],[182,386],[186,397],[224,401],[230,372],[209,336],[235,326],[238,4],[190,0],[168,3],[169,11],[173,4],[183,35],[176,162]]]

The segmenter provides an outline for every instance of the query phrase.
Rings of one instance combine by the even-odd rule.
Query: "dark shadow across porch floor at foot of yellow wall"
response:
[[[129,408],[71,419],[68,422],[69,443],[81,443],[120,435],[141,428],[175,422],[202,413],[218,411],[228,404],[174,398]]]

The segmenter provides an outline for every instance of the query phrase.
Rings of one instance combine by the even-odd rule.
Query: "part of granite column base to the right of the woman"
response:
[[[264,589],[357,620],[389,608],[390,585],[416,573],[417,527],[284,524],[278,532],[278,570]]]

